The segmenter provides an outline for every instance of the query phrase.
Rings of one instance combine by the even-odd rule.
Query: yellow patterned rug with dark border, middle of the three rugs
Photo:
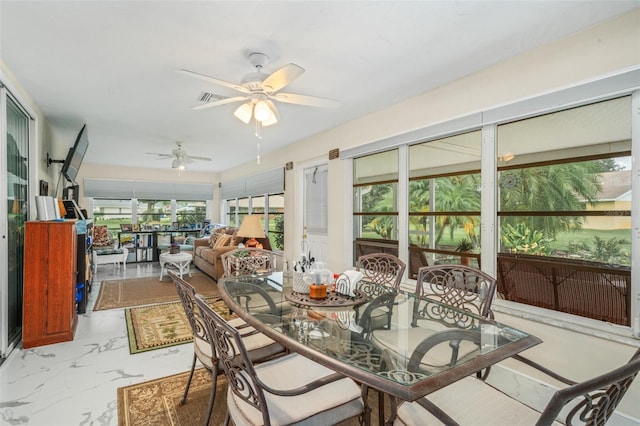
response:
[[[224,319],[235,318],[222,299],[214,297],[208,301]],[[180,302],[126,308],[124,313],[131,354],[193,341],[191,327]]]

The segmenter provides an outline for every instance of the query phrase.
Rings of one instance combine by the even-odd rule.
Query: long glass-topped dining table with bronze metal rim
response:
[[[402,401],[415,401],[541,343],[506,324],[409,292],[381,287],[370,297],[329,292],[314,300],[293,292],[292,281],[291,273],[273,272],[221,278],[218,289],[236,315],[289,351]]]

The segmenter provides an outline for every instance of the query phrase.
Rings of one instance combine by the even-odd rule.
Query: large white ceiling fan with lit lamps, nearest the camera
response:
[[[239,84],[230,83],[185,69],[178,70],[178,72],[190,77],[199,78],[218,86],[228,87],[241,93],[240,96],[233,97],[215,95],[215,99],[218,100],[196,105],[192,109],[201,110],[234,102],[242,102],[242,105],[235,110],[233,115],[245,124],[248,124],[251,119],[254,118],[256,125],[259,123],[262,126],[270,126],[279,120],[278,110],[273,103],[274,100],[289,104],[322,108],[336,108],[340,106],[340,102],[332,99],[280,92],[281,89],[304,73],[304,68],[299,65],[287,64],[272,74],[266,74],[262,72],[262,69],[269,62],[267,55],[259,52],[252,53],[249,55],[249,62],[256,68],[256,71],[245,75]]]

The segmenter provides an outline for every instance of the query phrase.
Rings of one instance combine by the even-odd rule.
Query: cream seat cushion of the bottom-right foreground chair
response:
[[[461,425],[533,425],[540,417],[538,411],[475,377],[454,382],[427,395],[427,399]],[[442,422],[416,402],[400,404],[394,425],[425,424]]]

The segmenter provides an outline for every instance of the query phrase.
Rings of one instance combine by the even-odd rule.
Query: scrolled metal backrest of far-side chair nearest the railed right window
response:
[[[436,300],[467,312],[493,318],[491,302],[495,296],[496,285],[495,278],[471,266],[426,266],[418,271],[415,294],[419,298]],[[415,304],[414,324],[424,314],[419,304]]]

